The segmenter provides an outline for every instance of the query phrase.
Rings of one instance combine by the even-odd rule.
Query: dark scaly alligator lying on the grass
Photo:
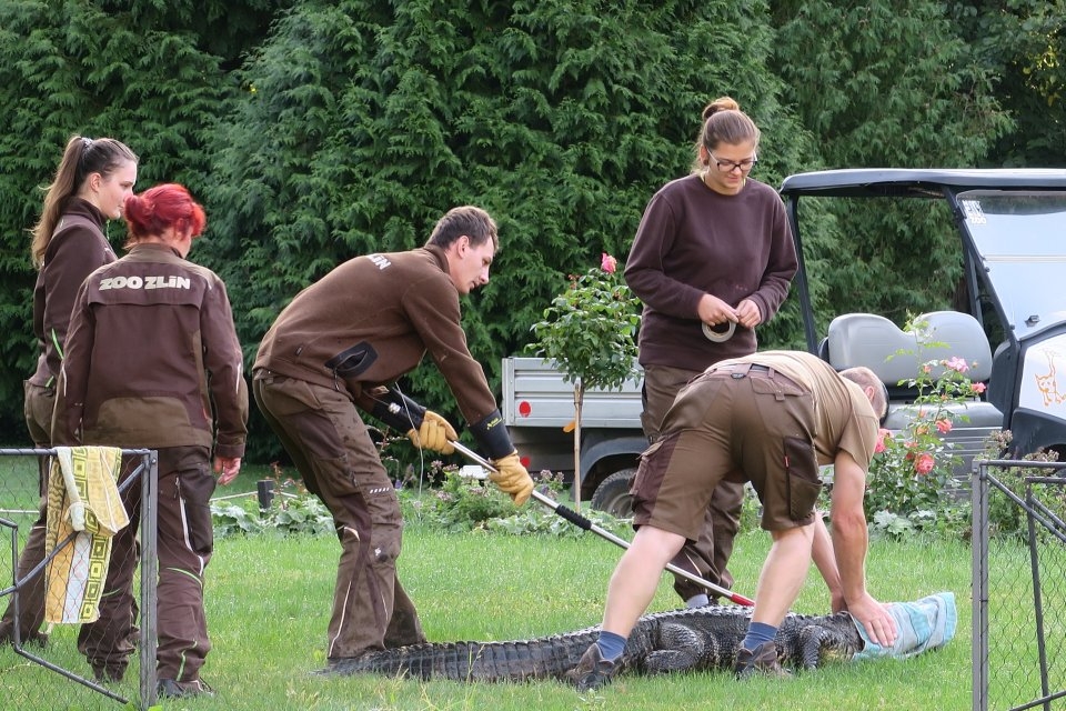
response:
[[[751,612],[751,608],[712,604],[645,614],[630,634],[620,673],[731,669]],[[596,625],[507,642],[425,642],[334,660],[324,673],[465,682],[563,680],[599,631]],[[865,644],[846,612],[788,613],[775,641],[781,663],[793,669],[814,669],[829,659],[851,660]]]

